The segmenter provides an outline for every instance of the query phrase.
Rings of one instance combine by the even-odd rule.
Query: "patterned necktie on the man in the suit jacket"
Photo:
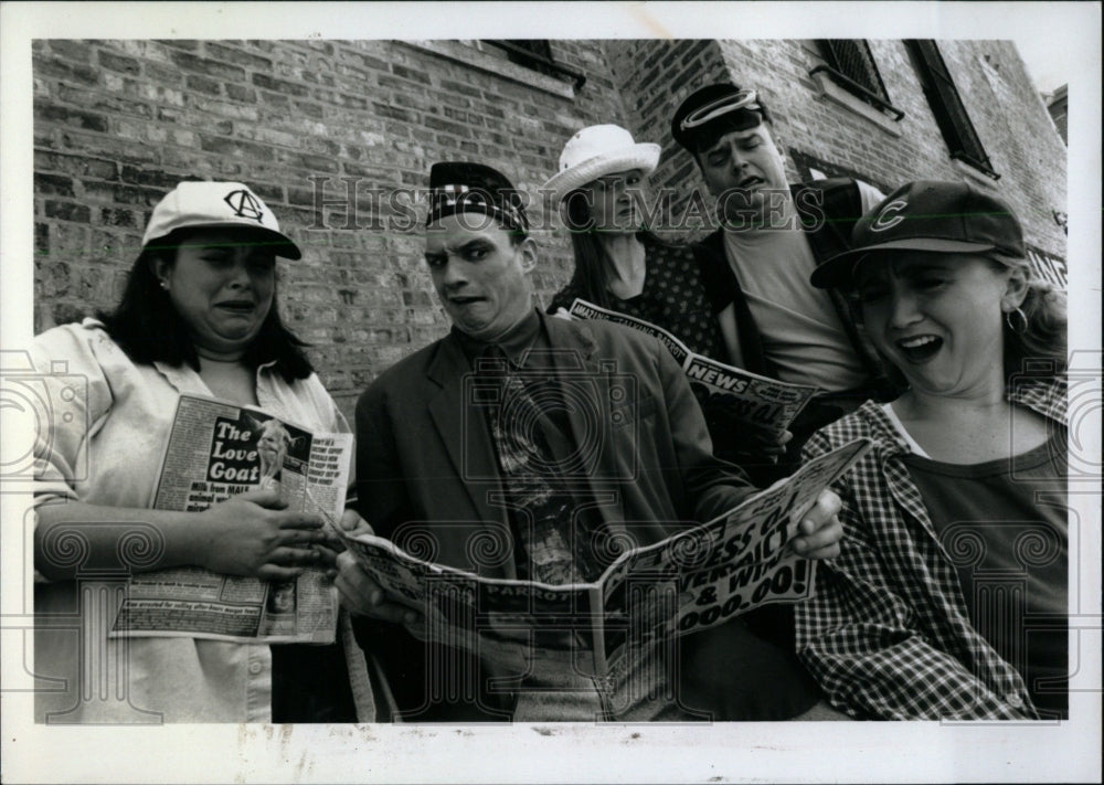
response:
[[[554,425],[529,390],[554,384],[552,371],[526,372],[499,347],[489,347],[482,358],[480,373],[495,376],[502,391],[499,403],[488,407],[488,420],[519,545],[519,577],[548,584],[597,577],[587,524],[592,516],[576,513],[578,502],[558,474],[545,434]]]

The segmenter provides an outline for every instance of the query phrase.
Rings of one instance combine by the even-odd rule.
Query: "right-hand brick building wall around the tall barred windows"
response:
[[[790,153],[793,179],[803,174],[797,156],[818,161],[828,174],[860,176],[882,188],[921,178],[967,178],[951,160],[904,43],[868,43],[890,102],[905,113],[890,121],[893,130],[820,96],[809,76],[822,63],[813,41],[612,41],[606,51],[624,85],[630,129],[664,146],[652,184],[679,189],[677,203],[694,188],[704,192],[704,185],[689,153],[671,138],[670,116],[691,92],[723,78],[756,88],[766,100],[775,136]],[[1028,242],[1064,257],[1065,234],[1052,211],[1065,211],[1065,148],[1015,46],[947,41],[940,49],[1001,176],[996,182],[984,174],[970,181],[991,183],[1021,218]]]

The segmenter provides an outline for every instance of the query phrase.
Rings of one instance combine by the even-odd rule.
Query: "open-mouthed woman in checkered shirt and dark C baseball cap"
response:
[[[1066,718],[1064,298],[964,183],[910,183],[852,238],[813,283],[857,293],[909,389],[805,448],[874,442],[835,488],[846,535],[799,654],[857,718]]]

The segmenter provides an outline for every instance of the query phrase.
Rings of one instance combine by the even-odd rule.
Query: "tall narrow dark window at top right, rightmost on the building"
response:
[[[974,129],[958,88],[947,71],[947,64],[940,54],[940,47],[934,41],[912,40],[904,43],[920,76],[924,96],[940,126],[940,132],[951,150],[951,157],[970,165],[994,180],[1000,179],[981,147],[981,139]]]

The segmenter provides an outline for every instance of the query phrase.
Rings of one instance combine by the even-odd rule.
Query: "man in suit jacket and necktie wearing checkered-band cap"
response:
[[[603,535],[657,542],[752,492],[737,468],[712,456],[689,384],[661,343],[533,307],[537,245],[502,174],[437,163],[429,181],[425,258],[453,329],[358,402],[357,503],[378,534],[400,547],[429,543],[435,561],[481,575],[564,584],[601,574],[611,558],[595,547]],[[808,513],[799,553],[838,552],[837,503],[826,494]],[[490,553],[487,543],[505,545]],[[382,660],[404,719],[657,720],[697,708],[765,720],[817,700],[793,654],[739,619],[686,639],[678,682],[675,658],[633,658],[635,694],[542,646],[573,630],[537,630],[528,673],[493,672],[458,647],[415,638],[418,614],[384,598],[351,555],[339,566],[344,603],[365,617],[359,639]],[[714,700],[715,673],[693,669],[699,646],[726,653],[739,673],[723,700]],[[502,677],[512,677],[506,687]],[[691,702],[680,689],[711,700]]]

